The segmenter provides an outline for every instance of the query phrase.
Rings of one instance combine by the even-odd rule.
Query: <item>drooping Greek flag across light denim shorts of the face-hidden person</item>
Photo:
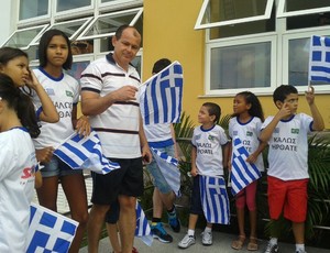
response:
[[[180,196],[180,170],[178,169],[178,161],[165,152],[151,148],[153,157],[156,161],[165,180],[173,189],[176,196]]]

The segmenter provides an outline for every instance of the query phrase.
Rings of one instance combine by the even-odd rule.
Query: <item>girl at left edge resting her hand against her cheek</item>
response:
[[[13,47],[0,48],[0,73],[11,77],[15,87],[22,87],[29,95],[38,97],[41,101],[41,107],[36,109],[38,120],[50,123],[55,123],[59,120],[52,100],[29,68],[29,58],[25,52]],[[37,153],[37,161],[50,162],[52,153],[53,148],[47,148],[42,154]]]

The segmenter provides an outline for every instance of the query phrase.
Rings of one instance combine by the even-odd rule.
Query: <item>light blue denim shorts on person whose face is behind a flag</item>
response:
[[[161,152],[165,152],[167,153],[167,155],[173,156],[174,157],[174,145],[170,146],[166,146],[166,147],[157,147],[156,150],[161,151]],[[146,165],[147,170],[151,173],[151,175],[153,176],[153,184],[154,186],[162,193],[162,194],[169,194],[170,191],[173,191],[173,189],[170,188],[170,186],[167,184],[165,177],[163,176],[163,173],[161,172],[155,158],[153,158],[153,161]]]

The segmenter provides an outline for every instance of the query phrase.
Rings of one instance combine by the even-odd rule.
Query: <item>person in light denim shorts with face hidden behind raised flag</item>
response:
[[[160,73],[170,65],[167,58],[158,59],[153,66],[153,75]],[[144,124],[144,131],[150,147],[154,147],[161,152],[167,153],[169,156],[177,158],[175,133],[172,123],[162,124]],[[180,231],[180,222],[177,218],[174,207],[175,194],[167,184],[165,176],[161,172],[160,165],[155,160],[147,166],[148,172],[153,176],[155,186],[153,194],[153,218],[151,230],[153,237],[161,242],[172,242],[173,238],[166,232],[162,224],[163,206],[167,210],[168,223],[174,232]]]

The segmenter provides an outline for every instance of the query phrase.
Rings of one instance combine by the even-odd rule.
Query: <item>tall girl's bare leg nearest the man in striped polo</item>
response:
[[[73,174],[61,178],[67,198],[72,218],[79,222],[69,252],[78,252],[88,221],[87,194],[82,174]]]

